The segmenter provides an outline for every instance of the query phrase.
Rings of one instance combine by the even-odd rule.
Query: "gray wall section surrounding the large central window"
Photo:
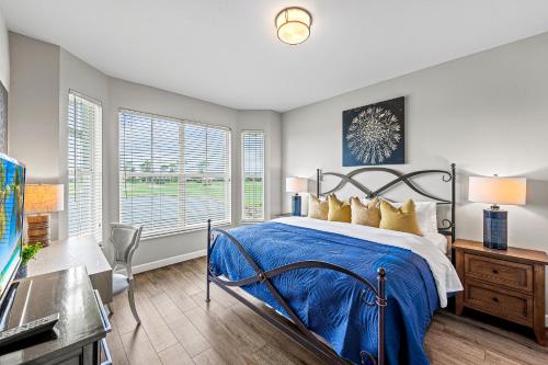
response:
[[[229,127],[232,132],[232,161],[238,156],[235,153],[238,146],[235,134],[238,119],[237,111],[232,109],[114,78],[109,79],[109,110],[105,113],[106,122],[104,123],[107,139],[104,140],[103,146],[105,147],[104,155],[109,156],[110,160],[104,183],[110,186],[109,215],[112,221],[119,219],[117,163],[119,109]],[[235,217],[235,212],[239,207],[237,163],[232,163],[232,181],[235,182],[232,183],[232,217]],[[205,247],[205,230],[149,238],[142,241],[139,250],[135,253],[134,263],[140,265],[171,260],[204,250]]]

